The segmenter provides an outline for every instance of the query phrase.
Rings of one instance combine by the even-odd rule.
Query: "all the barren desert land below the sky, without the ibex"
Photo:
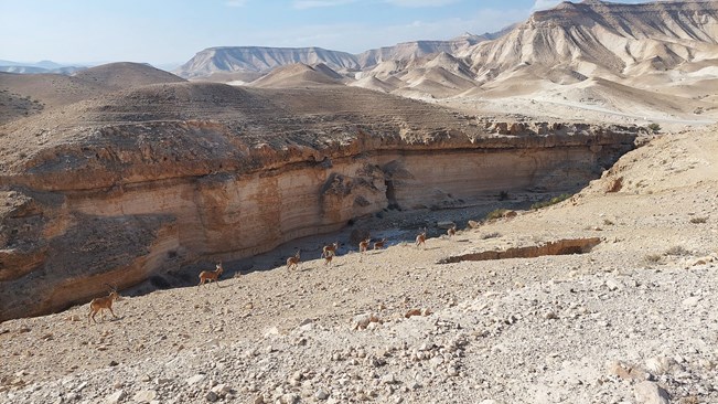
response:
[[[0,403],[718,403],[717,15],[0,73]]]

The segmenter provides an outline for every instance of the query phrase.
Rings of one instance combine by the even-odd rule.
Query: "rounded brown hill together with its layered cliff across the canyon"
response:
[[[345,88],[179,83],[49,111],[3,128],[0,319],[251,256],[389,205],[575,190],[636,134],[489,124]]]

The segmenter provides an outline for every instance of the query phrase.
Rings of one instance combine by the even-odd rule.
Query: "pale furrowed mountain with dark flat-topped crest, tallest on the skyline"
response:
[[[476,45],[470,57],[483,81],[519,70],[604,78],[645,74],[646,64],[668,71],[718,59],[718,7],[712,1],[562,2]]]

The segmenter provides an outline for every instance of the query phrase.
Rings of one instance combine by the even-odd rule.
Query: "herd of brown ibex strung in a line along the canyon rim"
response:
[[[457,234],[457,225],[452,225],[448,231],[447,235],[449,238],[454,236]],[[367,237],[362,240],[358,243],[358,251],[360,253],[366,253],[366,251],[369,247],[372,238]],[[416,246],[420,247],[424,246],[426,248],[426,241],[427,241],[427,230],[426,227],[422,230],[421,233],[419,233],[416,236]],[[374,249],[382,249],[386,245],[386,238],[382,238],[379,241],[374,242]],[[334,242],[332,244],[325,245],[322,248],[322,258],[324,258],[324,265],[332,265],[332,258],[336,255],[336,251],[339,249],[339,242]],[[299,264],[300,264],[300,254],[301,251],[297,251],[297,253],[287,258],[287,269],[291,270],[292,268],[298,269]],[[215,266],[214,270],[203,270],[200,273],[200,284],[197,287],[204,285],[205,283],[214,281],[217,284],[217,287],[219,287],[219,275],[224,272],[224,268],[222,266],[222,263],[218,263]],[[107,285],[107,284],[106,284]],[[101,318],[105,319],[105,310],[109,310],[109,312],[112,315],[114,318],[118,318],[115,315],[115,311],[112,311],[112,302],[117,299],[119,299],[119,294],[117,293],[117,286],[109,286],[109,295],[105,297],[97,297],[94,298],[93,301],[89,302],[89,313],[87,315],[87,322],[89,323],[90,319],[97,323],[97,320],[95,320],[95,316],[100,312]]]

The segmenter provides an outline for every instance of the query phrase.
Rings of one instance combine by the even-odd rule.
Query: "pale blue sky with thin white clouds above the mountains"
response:
[[[614,2],[642,2],[614,0]],[[558,0],[0,0],[0,60],[172,67],[212,46],[361,53],[496,32]]]

